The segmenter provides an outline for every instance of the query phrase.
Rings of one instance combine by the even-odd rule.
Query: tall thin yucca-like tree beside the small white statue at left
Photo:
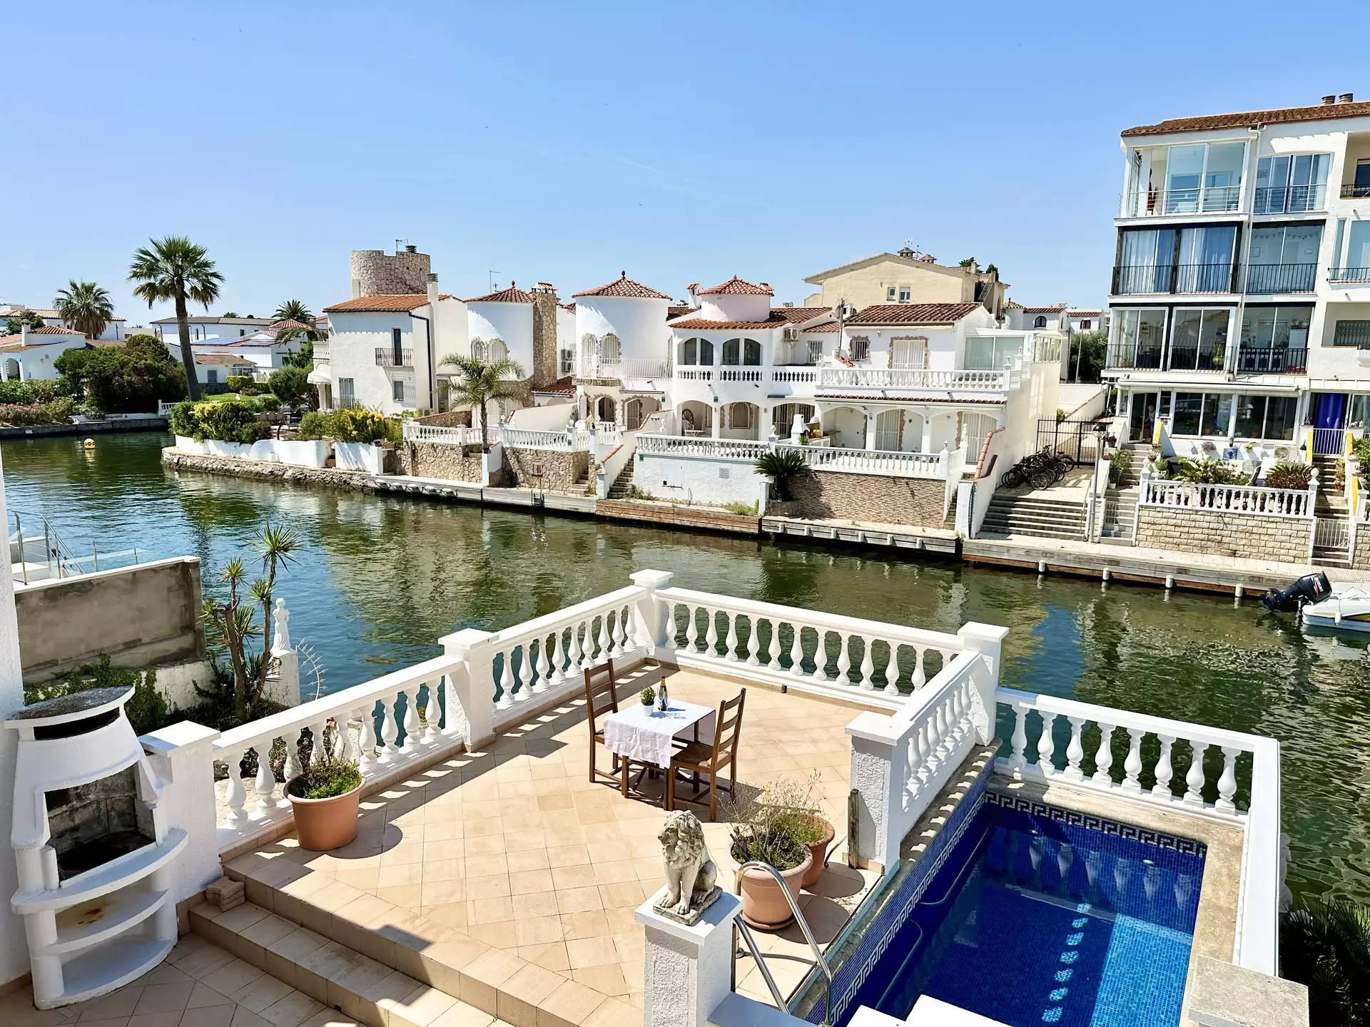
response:
[[[210,642],[227,650],[229,670],[233,675],[233,716],[237,723],[245,723],[256,715],[266,694],[266,676],[271,670],[271,604],[275,575],[295,559],[300,540],[290,529],[264,524],[258,530],[252,548],[262,557],[262,571],[266,576],[258,578],[248,586],[242,557],[234,556],[219,572],[219,581],[229,586],[227,600],[208,598],[203,609]],[[258,607],[262,609],[260,624],[256,618]],[[258,634],[262,635],[262,652],[249,657],[248,639]]]

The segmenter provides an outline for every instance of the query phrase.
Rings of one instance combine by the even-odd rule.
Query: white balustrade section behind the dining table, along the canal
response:
[[[682,667],[744,664],[737,670],[745,676],[829,696],[862,693],[863,702],[884,709],[923,686],[929,655],[944,668],[966,648],[940,631],[733,596],[662,589],[656,598],[669,612],[664,645]]]

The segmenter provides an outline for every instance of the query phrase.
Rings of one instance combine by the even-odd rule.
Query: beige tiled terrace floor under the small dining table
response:
[[[625,678],[621,702],[636,702],[638,689],[660,675],[644,668]],[[692,671],[673,671],[669,682],[673,697],[707,705],[740,687]],[[818,768],[815,798],[841,842],[851,760],[844,728],[855,712],[748,687],[740,790],[778,776],[803,779]],[[288,835],[234,859],[229,872],[247,879],[258,905],[382,963],[396,965],[393,954],[386,960],[369,950],[369,941],[392,945],[377,934],[386,927],[385,934],[407,939],[401,946],[459,949],[463,961],[496,949],[501,979],[523,974],[540,1009],[556,993],[558,1015],[571,1023],[640,1023],[643,928],[633,911],[663,879],[662,785],[644,781],[644,793],[625,800],[611,783],[590,783],[588,749],[581,697],[506,731],[484,752],[462,753],[363,800],[359,835],[342,849],[307,852]],[[603,749],[599,759],[608,768]],[[697,812],[721,883],[730,887],[727,824],[707,823],[707,809]],[[843,852],[838,845],[814,891],[800,900],[823,942],[873,879],[848,870],[836,857]],[[788,990],[807,969],[785,959],[807,952],[797,927],[759,938],[781,956],[769,963]],[[737,974],[740,991],[767,997],[749,960]],[[563,989],[566,980],[578,987]]]

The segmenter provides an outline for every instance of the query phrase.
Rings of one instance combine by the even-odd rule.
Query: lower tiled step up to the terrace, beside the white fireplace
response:
[[[488,1027],[496,1020],[493,1012],[252,902],[227,912],[207,902],[197,905],[190,909],[190,930],[369,1027]],[[458,979],[453,974],[452,982]],[[477,990],[474,985],[469,989],[473,994]]]

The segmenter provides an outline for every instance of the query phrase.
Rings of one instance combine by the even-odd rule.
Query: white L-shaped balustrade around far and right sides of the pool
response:
[[[1000,772],[1017,779],[1060,782],[1240,824],[1245,830],[1245,845],[1240,926],[1233,957],[1238,965],[1263,974],[1275,972],[1284,880],[1277,857],[1280,744],[1275,739],[1015,689],[997,689],[996,700],[1014,716],[1010,753],[997,761]],[[1055,760],[1055,735],[1066,734],[1058,726],[1060,720],[1069,724],[1070,735],[1064,765],[1058,765]],[[1092,756],[1093,772],[1086,775],[1084,739],[1089,726],[1097,731],[1097,746]],[[1123,748],[1123,735],[1126,757],[1121,767],[1115,767],[1114,746]],[[1148,738],[1155,738],[1155,742],[1148,742]],[[1188,760],[1180,794],[1174,789],[1177,744],[1182,745],[1181,759]],[[1029,759],[1033,748],[1036,760]],[[1217,750],[1219,759],[1210,759],[1210,767],[1206,767],[1204,757],[1210,750]],[[1237,804],[1238,761],[1244,772],[1249,767],[1249,798],[1244,808]],[[1211,781],[1211,767],[1221,767],[1215,781]],[[1151,787],[1147,787],[1148,778]]]

